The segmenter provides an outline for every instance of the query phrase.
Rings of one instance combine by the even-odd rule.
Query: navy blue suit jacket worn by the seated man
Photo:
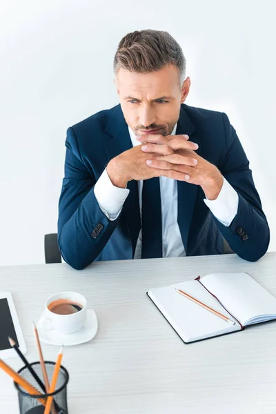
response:
[[[226,227],[204,203],[200,186],[177,181],[177,221],[186,255],[223,253],[224,237],[237,255],[256,261],[268,248],[269,228],[248,159],[228,117],[182,104],[176,133],[189,135],[199,145],[197,154],[215,164],[239,195],[237,215]],[[130,193],[115,221],[102,213],[94,194],[108,161],[130,148],[120,105],[68,128],[58,241],[63,259],[73,268],[85,268],[94,260],[133,258],[141,228],[137,181],[128,183]]]

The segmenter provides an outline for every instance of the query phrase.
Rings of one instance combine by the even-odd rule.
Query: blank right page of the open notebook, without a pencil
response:
[[[248,273],[214,273],[200,281],[244,326],[276,316],[276,297]]]

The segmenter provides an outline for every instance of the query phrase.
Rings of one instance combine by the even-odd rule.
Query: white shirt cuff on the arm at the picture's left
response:
[[[94,187],[94,194],[99,208],[108,219],[116,220],[124,206],[130,190],[113,186],[106,169]]]

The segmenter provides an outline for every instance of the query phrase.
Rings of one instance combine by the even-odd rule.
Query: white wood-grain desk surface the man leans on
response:
[[[276,322],[184,344],[146,296],[164,286],[213,272],[248,272],[276,295],[276,253],[256,263],[236,255],[97,262],[85,270],[66,264],[0,268],[28,347],[37,361],[32,320],[46,298],[76,290],[99,319],[92,342],[65,348],[70,414],[276,413]],[[55,361],[59,347],[44,344]],[[19,359],[9,359],[15,369]],[[12,380],[0,372],[0,413],[18,413]]]

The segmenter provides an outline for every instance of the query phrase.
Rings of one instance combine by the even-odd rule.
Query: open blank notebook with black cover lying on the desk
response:
[[[235,325],[175,289],[184,290],[234,320]],[[185,343],[241,331],[245,326],[276,319],[276,297],[248,273],[213,273],[188,282],[152,288],[148,296]]]

